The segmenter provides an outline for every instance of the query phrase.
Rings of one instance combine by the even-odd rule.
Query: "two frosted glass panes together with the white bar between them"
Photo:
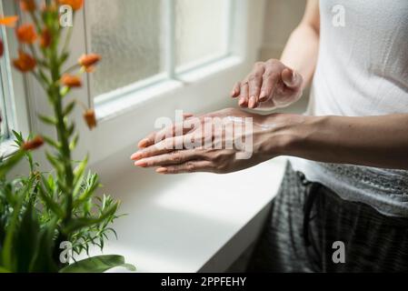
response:
[[[95,104],[229,55],[234,0],[88,0]]]

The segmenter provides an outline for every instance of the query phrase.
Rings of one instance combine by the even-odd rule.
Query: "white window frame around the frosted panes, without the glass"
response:
[[[166,0],[164,0],[166,1]],[[174,0],[167,0],[173,2]],[[143,90],[130,90],[118,100],[94,104],[90,94],[92,75],[85,76],[85,85],[72,95],[89,106],[95,106],[98,117],[97,128],[90,132],[82,122],[82,111],[75,112],[81,143],[78,157],[91,154],[91,162],[103,161],[119,152],[131,153],[139,138],[154,130],[154,121],[159,116],[174,117],[177,109],[185,112],[203,113],[233,106],[228,95],[234,82],[246,75],[258,58],[262,45],[264,25],[264,0],[233,0],[234,32],[231,34],[231,54],[218,61],[185,71],[175,78],[167,78]],[[86,2],[85,2],[86,3]],[[88,51],[89,37],[86,35],[86,6],[76,15],[70,63]],[[89,33],[89,32],[88,32]],[[168,36],[170,37],[170,36]],[[171,65],[171,64],[170,64]],[[140,84],[139,84],[140,85]],[[28,88],[33,94],[34,105],[30,112],[46,113],[45,93],[31,82]],[[202,100],[197,102],[197,100]],[[33,122],[35,132],[47,133],[49,128]],[[124,163],[124,161],[118,161]]]

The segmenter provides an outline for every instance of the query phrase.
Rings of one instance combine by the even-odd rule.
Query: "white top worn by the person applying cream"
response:
[[[408,0],[321,0],[320,13],[319,60],[307,114],[408,114]],[[291,163],[343,199],[408,217],[408,171],[300,158]]]

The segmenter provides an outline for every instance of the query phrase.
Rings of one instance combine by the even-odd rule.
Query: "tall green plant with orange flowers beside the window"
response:
[[[117,218],[119,203],[111,196],[96,196],[99,178],[86,172],[88,158],[74,162],[72,152],[78,142],[70,115],[76,101],[69,93],[82,85],[81,75],[91,73],[99,55],[84,55],[65,72],[71,33],[63,34],[58,5],[71,5],[74,14],[84,0],[20,0],[32,23],[16,27],[20,43],[15,68],[35,76],[42,85],[53,115],[38,118],[55,128],[56,137],[24,136],[15,132],[17,150],[0,160],[0,272],[104,272],[114,266],[134,270],[123,256],[94,256],[69,265],[69,252],[89,254],[90,246],[104,248]],[[15,16],[0,19],[0,25],[14,25]],[[72,29],[72,28],[67,28]],[[65,44],[61,50],[62,45]],[[0,43],[0,53],[3,45]],[[95,112],[85,108],[90,129],[96,126]],[[42,173],[32,151],[46,144],[45,156],[53,171]],[[30,168],[28,176],[12,180],[7,173],[22,159]],[[61,249],[63,248],[63,249]],[[65,253],[62,251],[65,250]],[[66,252],[68,251],[68,253]],[[68,256],[67,256],[68,255]]]

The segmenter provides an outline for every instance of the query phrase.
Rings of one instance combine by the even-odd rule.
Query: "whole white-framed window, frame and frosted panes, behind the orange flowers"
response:
[[[1,1],[15,9],[16,1]],[[73,113],[81,134],[75,154],[91,152],[92,163],[127,158],[157,117],[233,105],[227,95],[254,65],[262,43],[263,7],[264,0],[86,0],[75,16],[71,64],[84,53],[98,53],[103,61],[71,96],[95,106],[98,118],[89,132],[81,108]],[[15,54],[14,31],[7,34]],[[53,135],[36,118],[49,110],[41,86],[10,71],[16,128],[31,125],[35,133]]]

